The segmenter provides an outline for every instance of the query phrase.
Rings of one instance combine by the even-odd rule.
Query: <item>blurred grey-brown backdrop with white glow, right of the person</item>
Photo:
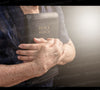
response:
[[[76,48],[73,62],[60,66],[57,87],[100,87],[100,6],[62,6]]]

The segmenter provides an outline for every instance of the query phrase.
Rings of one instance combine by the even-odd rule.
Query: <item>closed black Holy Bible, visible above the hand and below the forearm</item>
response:
[[[25,32],[23,43],[34,43],[33,38],[59,38],[58,13],[40,13],[25,15]],[[25,81],[26,85],[33,85],[50,80],[58,74],[57,66],[52,67],[40,77]]]

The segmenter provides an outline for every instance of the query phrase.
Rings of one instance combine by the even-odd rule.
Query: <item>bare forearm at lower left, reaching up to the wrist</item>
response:
[[[30,78],[37,72],[35,63],[22,63],[16,65],[0,65],[0,87],[10,87]]]

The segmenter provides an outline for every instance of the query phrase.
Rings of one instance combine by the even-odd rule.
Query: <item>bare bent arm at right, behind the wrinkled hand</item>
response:
[[[75,47],[71,40],[68,43],[64,44],[64,52],[61,56],[61,59],[58,65],[64,65],[74,60],[76,55]]]

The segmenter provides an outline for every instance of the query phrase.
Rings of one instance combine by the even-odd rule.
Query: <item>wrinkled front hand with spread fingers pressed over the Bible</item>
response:
[[[63,54],[63,43],[59,39],[34,39],[35,44],[20,44],[24,50],[17,50],[18,59],[24,62],[34,61],[47,72],[55,66]]]

